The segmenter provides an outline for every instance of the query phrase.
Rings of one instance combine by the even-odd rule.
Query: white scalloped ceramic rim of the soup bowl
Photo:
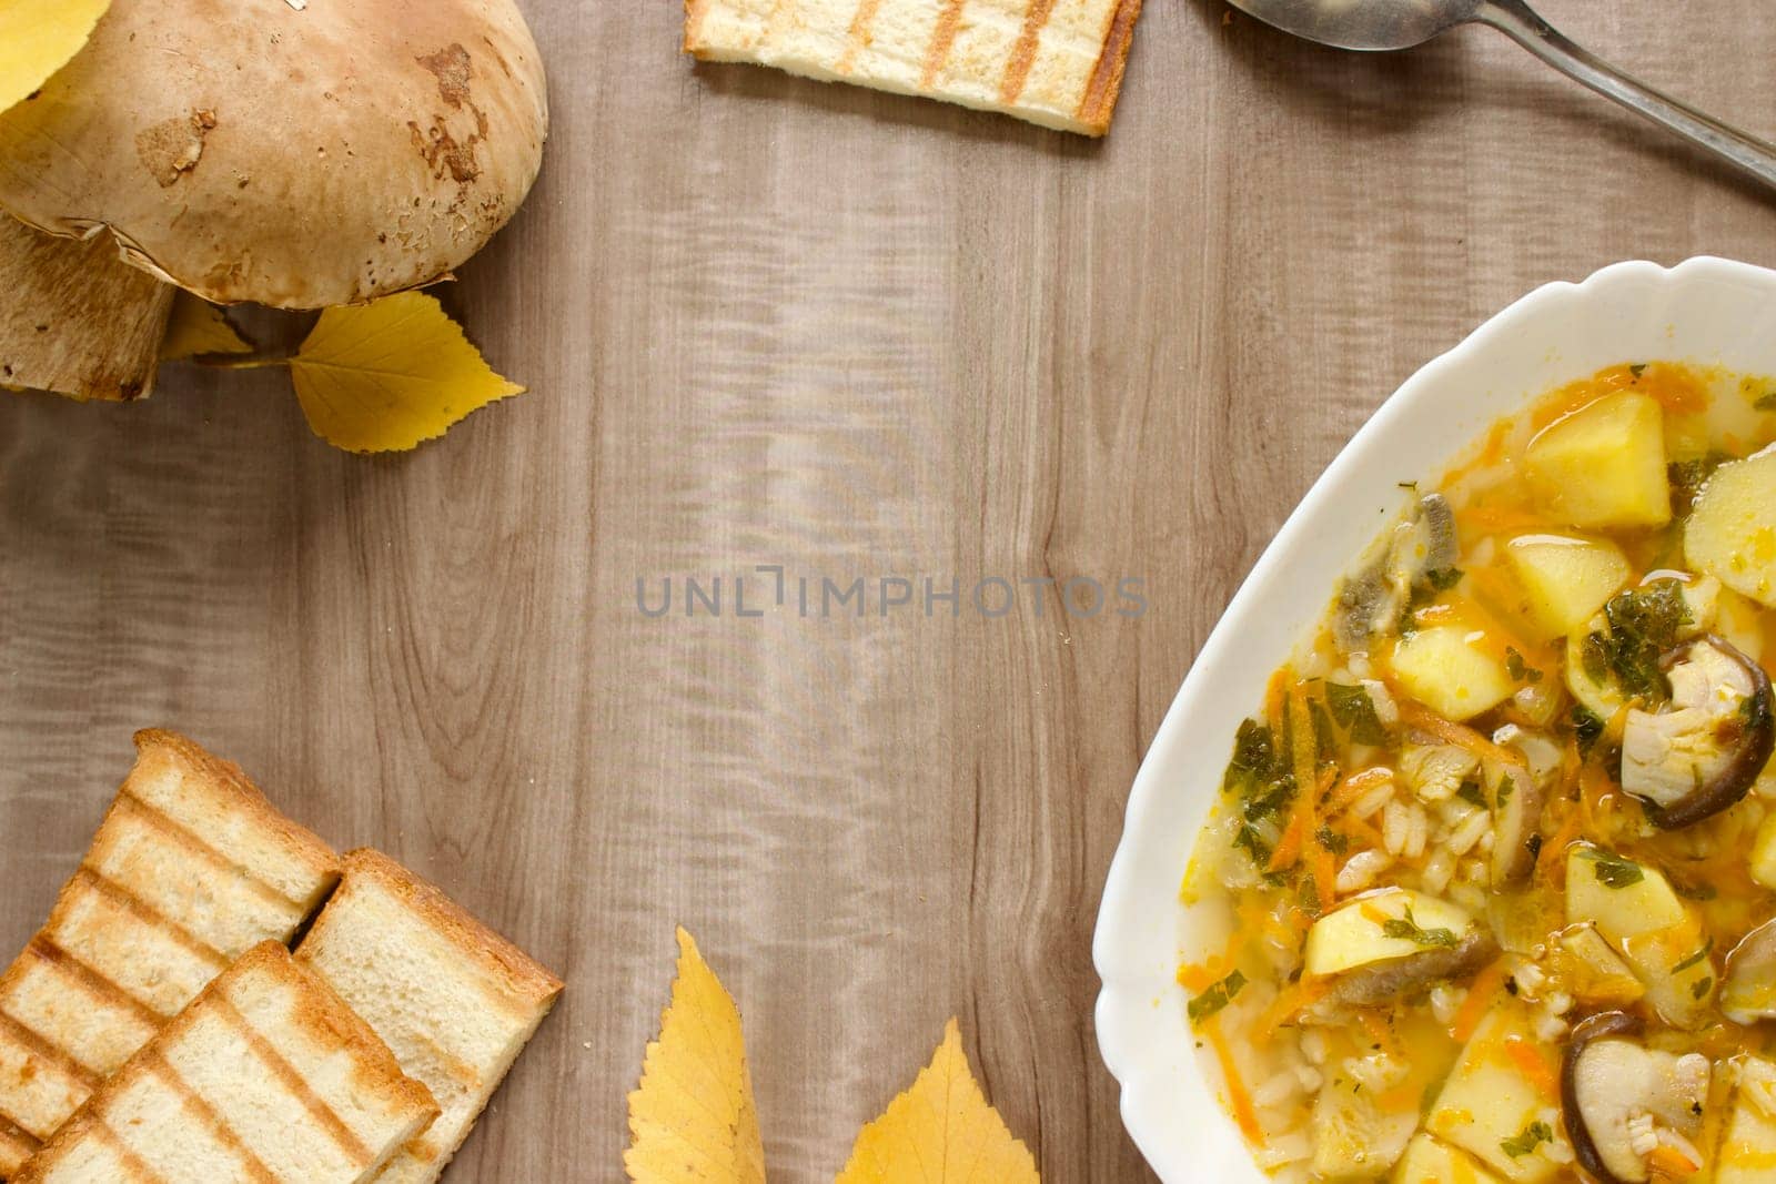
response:
[[[1169,1184],[1263,1184],[1204,1079],[1177,964],[1185,863],[1240,721],[1391,515],[1399,481],[1439,476],[1536,394],[1634,360],[1776,375],[1776,272],[1724,259],[1618,263],[1529,293],[1415,373],[1307,493],[1197,655],[1130,793],[1092,957],[1098,1046],[1122,1122]]]

